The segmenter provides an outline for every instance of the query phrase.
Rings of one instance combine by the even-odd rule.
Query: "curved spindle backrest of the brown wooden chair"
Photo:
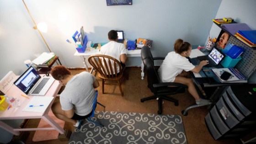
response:
[[[93,68],[96,69],[105,78],[113,78],[114,76],[117,77],[117,73],[122,75],[121,63],[111,56],[95,54],[91,55],[88,61],[91,66],[93,66]],[[112,67],[112,64],[114,67]],[[117,71],[117,66],[119,66],[119,72]]]

